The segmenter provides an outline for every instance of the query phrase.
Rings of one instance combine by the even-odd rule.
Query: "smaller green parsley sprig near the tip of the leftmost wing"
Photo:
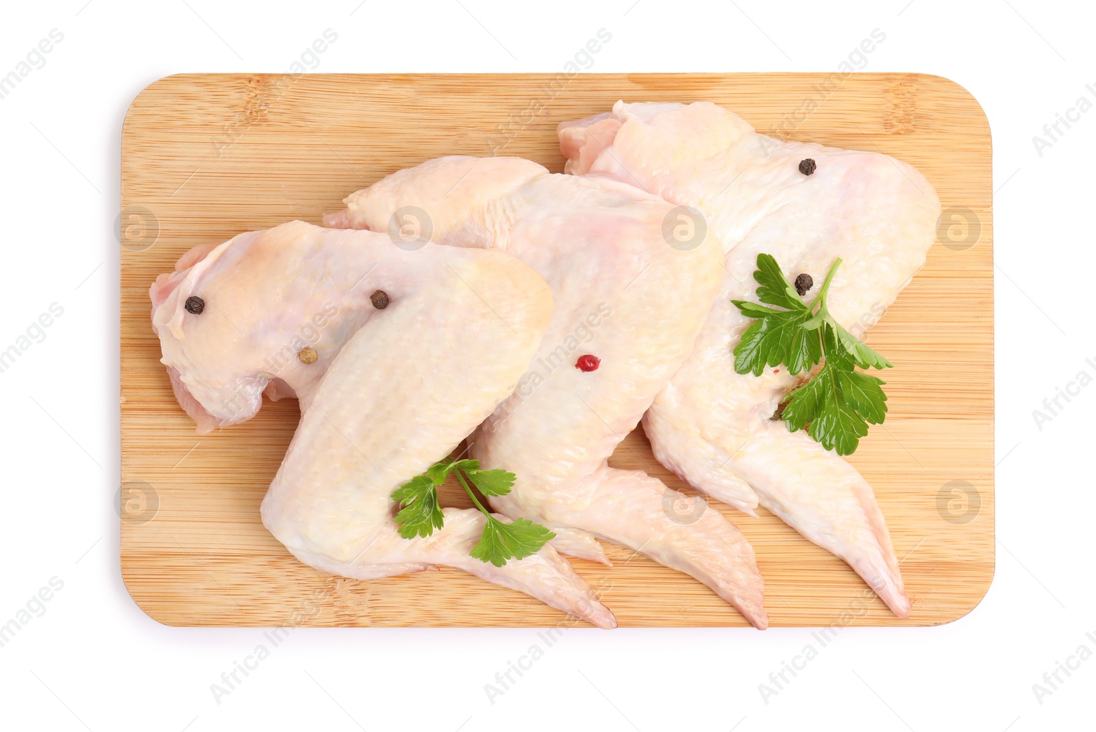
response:
[[[468,484],[471,482],[483,495],[506,495],[514,485],[514,473],[502,469],[481,470],[479,460],[444,458],[392,491],[392,499],[400,505],[396,524],[404,539],[430,536],[435,528],[442,528],[445,516],[437,503],[437,487],[449,473],[456,476],[476,507],[487,516],[480,540],[471,550],[476,559],[502,567],[510,559],[535,554],[546,541],[556,538],[547,528],[527,518],[515,518],[509,524],[499,521],[483,507]]]

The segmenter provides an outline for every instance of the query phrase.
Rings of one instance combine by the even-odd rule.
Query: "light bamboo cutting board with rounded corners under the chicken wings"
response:
[[[195,244],[290,219],[438,156],[507,155],[562,171],[556,125],[628,101],[708,100],[760,131],[886,152],[917,167],[940,242],[870,332],[895,365],[890,414],[852,462],[875,487],[913,601],[899,620],[841,560],[762,511],[746,535],[774,626],[934,625],[993,579],[993,252],[990,128],[938,77],[840,75],[184,75],[142,91],[122,139],[122,571],[137,604],[179,626],[555,626],[575,622],[456,570],[362,582],[308,568],[259,504],[297,424],[293,400],[198,437],[149,324],[148,286]],[[638,430],[613,464],[686,489]],[[450,505],[470,505],[449,490]],[[741,626],[695,580],[623,547],[573,560],[621,626]]]

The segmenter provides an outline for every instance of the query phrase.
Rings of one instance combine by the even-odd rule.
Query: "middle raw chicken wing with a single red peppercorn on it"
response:
[[[400,211],[415,207],[434,241],[505,250],[551,287],[555,310],[536,357],[470,438],[481,465],[517,476],[492,506],[570,527],[574,544],[560,548],[568,553],[589,553],[584,531],[630,547],[704,582],[764,628],[764,583],[742,534],[716,511],[683,522],[665,506],[684,496],[607,464],[693,348],[720,286],[715,238],[671,245],[663,224],[674,207],[661,198],[513,158],[433,160],[345,203],[327,225],[392,230],[393,215],[400,224]],[[596,368],[576,367],[583,356]]]

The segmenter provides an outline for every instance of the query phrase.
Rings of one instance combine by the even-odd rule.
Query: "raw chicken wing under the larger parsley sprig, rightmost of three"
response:
[[[696,348],[643,419],[655,457],[720,501],[747,513],[765,506],[848,562],[907,617],[871,487],[806,432],[772,420],[802,375],[734,371],[732,350],[752,321],[731,300],[756,301],[758,253],[775,256],[789,279],[810,274],[808,301],[841,258],[827,305],[863,335],[924,264],[940,213],[932,186],[888,156],[781,142],[706,102],[617,102],[612,112],[562,123],[559,137],[567,172],[692,207],[723,247],[722,286]],[[799,169],[806,159],[817,165],[809,175]]]

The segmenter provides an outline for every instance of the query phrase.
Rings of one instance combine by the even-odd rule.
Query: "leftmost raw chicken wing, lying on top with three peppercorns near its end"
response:
[[[192,250],[150,295],[162,362],[199,430],[249,419],[264,389],[299,398],[300,424],[262,504],[295,557],[362,580],[454,567],[616,626],[550,545],[503,567],[472,558],[478,510],[446,508],[425,538],[400,537],[393,521],[392,491],[468,436],[536,353],[551,295],[532,268],[499,252],[406,251],[385,235],[293,221]],[[298,356],[306,347],[315,359]]]

